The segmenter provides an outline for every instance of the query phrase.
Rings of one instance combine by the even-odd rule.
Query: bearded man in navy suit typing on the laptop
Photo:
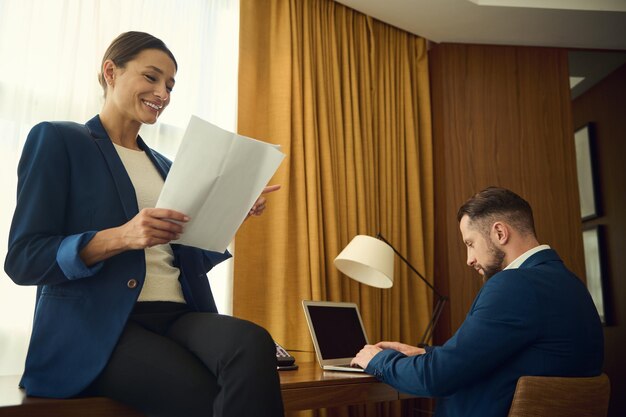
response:
[[[467,264],[484,282],[461,327],[443,346],[425,350],[367,345],[353,364],[400,391],[440,397],[437,417],[505,417],[523,375],[599,375],[597,310],[584,283],[537,241],[528,202],[490,187],[457,218]]]

